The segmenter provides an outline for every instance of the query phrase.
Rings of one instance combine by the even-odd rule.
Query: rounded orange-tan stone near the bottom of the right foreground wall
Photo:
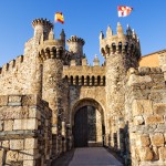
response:
[[[152,160],[154,154],[149,147],[143,147],[139,149],[139,156],[141,156],[141,160]]]

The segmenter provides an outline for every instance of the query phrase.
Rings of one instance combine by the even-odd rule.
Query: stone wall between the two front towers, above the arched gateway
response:
[[[95,100],[105,111],[105,80],[103,80],[105,77],[105,66],[63,66],[63,77],[65,76],[68,76],[66,82],[69,83],[70,123],[72,123],[74,105],[83,98]],[[73,83],[71,83],[71,76]],[[89,84],[87,76],[90,76]],[[92,81],[93,76],[94,82]],[[98,83],[97,76],[101,79]],[[104,113],[104,115],[106,114]]]

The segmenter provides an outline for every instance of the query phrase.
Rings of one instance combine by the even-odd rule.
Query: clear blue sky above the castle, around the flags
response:
[[[134,8],[131,15],[117,17],[117,6]],[[0,1],[0,66],[23,54],[24,43],[33,37],[32,20],[62,11],[65,23],[55,23],[55,38],[64,29],[66,39],[77,35],[85,40],[84,53],[92,64],[100,54],[98,35],[111,25],[116,33],[121,22],[129,24],[139,37],[142,55],[166,49],[166,0],[1,0]],[[68,48],[66,48],[68,49]]]

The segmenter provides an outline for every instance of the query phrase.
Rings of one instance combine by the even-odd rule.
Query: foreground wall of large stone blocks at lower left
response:
[[[51,110],[37,95],[0,96],[0,165],[50,165]]]

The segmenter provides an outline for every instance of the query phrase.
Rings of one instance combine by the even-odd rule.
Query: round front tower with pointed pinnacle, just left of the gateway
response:
[[[63,40],[55,40],[53,37],[53,31],[50,31],[49,39],[40,42],[39,58],[43,62],[42,98],[49,102],[52,110],[52,157],[58,157],[62,152],[61,128],[64,124],[62,122],[62,72],[65,48]]]

